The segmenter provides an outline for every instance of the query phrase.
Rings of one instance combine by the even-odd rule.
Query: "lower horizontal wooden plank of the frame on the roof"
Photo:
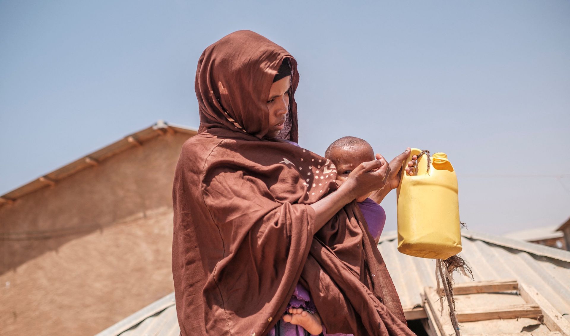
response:
[[[541,315],[542,310],[538,305],[511,305],[496,308],[461,309],[457,311],[457,321],[461,323],[485,321],[487,319],[539,318]]]

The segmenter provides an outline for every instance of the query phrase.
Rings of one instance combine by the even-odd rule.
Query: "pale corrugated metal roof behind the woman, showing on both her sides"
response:
[[[570,314],[570,252],[484,233],[462,231],[461,256],[476,281],[518,280],[536,288],[561,314]],[[425,286],[435,287],[435,261],[406,256],[397,250],[396,232],[383,234],[378,249],[384,257],[404,309],[422,305]],[[455,274],[455,282],[471,281]],[[570,315],[565,315],[570,319]],[[125,318],[96,336],[180,333],[174,293]]]

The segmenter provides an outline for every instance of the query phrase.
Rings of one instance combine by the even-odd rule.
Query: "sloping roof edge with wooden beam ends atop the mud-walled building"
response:
[[[123,139],[115,141],[114,143],[109,144],[99,149],[98,151],[83,156],[82,158],[75,160],[72,163],[66,164],[63,167],[56,169],[55,171],[38,177],[38,179],[35,179],[30,183],[22,185],[22,187],[14,189],[13,191],[0,196],[0,206],[3,204],[10,204],[20,197],[25,196],[28,193],[34,192],[38,189],[47,187],[48,185],[55,185],[59,180],[73,175],[76,172],[92,167],[93,165],[96,165],[100,161],[108,159],[113,155],[123,152],[129,148],[137,147],[138,145],[143,144],[145,141],[153,139],[157,136],[164,135],[168,132],[196,135],[197,130],[185,126],[167,124],[164,122],[164,120],[158,120],[158,122],[152,124],[152,126],[148,128],[141,129],[138,132],[127,135],[123,137]]]

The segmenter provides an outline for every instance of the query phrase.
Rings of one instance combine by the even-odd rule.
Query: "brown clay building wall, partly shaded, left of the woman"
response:
[[[0,207],[2,335],[93,335],[173,291],[167,133]]]

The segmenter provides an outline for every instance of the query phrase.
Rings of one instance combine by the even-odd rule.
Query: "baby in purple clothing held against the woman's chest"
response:
[[[353,136],[341,137],[339,140],[333,142],[327,148],[324,157],[335,164],[337,172],[336,179],[339,183],[343,183],[347,180],[352,169],[355,169],[361,163],[376,160],[370,144],[363,139]],[[411,167],[411,164],[409,164],[409,166]],[[414,171],[413,169],[414,168],[410,171],[410,175]],[[406,169],[406,171],[408,171],[408,169]],[[390,188],[388,188],[387,191],[389,191],[389,189]],[[386,213],[380,206],[380,202],[384,199],[384,196],[386,196],[387,191],[380,189],[356,199],[364,215],[364,219],[368,224],[368,231],[374,238],[374,241],[376,241],[376,244],[378,244],[380,240],[380,234],[386,222]],[[305,296],[306,299],[302,299],[303,296]],[[306,289],[298,285],[295,289],[294,298],[301,299],[301,301],[304,301],[304,304],[290,307],[288,314],[284,315],[283,320],[303,327],[312,335],[321,333],[323,326],[321,325],[319,314],[317,314],[314,305],[310,302],[310,297],[308,293],[306,293]],[[302,306],[312,306],[312,309],[303,309]]]

